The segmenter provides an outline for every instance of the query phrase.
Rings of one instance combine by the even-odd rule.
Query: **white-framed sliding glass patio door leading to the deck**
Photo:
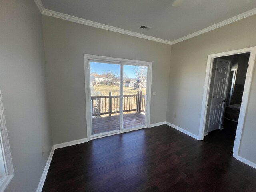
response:
[[[84,55],[88,139],[149,125],[152,62]]]

